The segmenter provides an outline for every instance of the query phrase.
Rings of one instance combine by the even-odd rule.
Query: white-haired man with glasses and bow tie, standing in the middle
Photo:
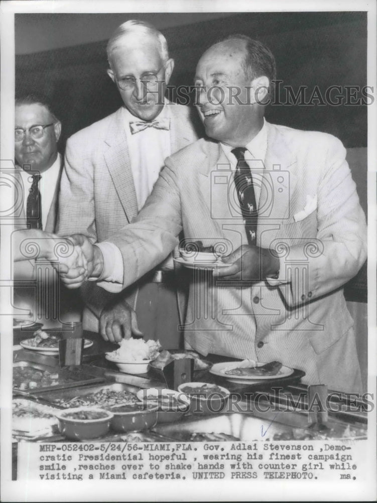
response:
[[[164,97],[174,61],[162,33],[142,21],[123,23],[108,41],[107,58],[124,106],[68,139],[59,202],[58,233],[82,233],[93,242],[131,222],[164,159],[197,139],[190,109]],[[170,260],[117,295],[84,285],[84,328],[110,342],[141,330],[146,339],[178,348],[172,267]]]

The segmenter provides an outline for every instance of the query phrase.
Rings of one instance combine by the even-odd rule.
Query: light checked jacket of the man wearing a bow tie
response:
[[[167,106],[172,113],[170,139],[173,153],[198,136],[188,107],[173,103]],[[100,242],[131,222],[137,214],[138,203],[120,108],[68,139],[57,232],[59,235],[78,232],[93,242]],[[134,285],[124,291],[121,298],[133,305],[136,291],[137,285]],[[98,331],[98,318],[103,307],[117,296],[94,283],[83,286],[82,296],[87,306],[83,326]]]

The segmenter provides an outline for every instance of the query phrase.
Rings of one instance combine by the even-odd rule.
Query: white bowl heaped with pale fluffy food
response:
[[[157,358],[161,345],[159,341],[144,339],[122,339],[119,348],[106,353],[105,358],[114,363],[121,372],[145,374],[149,363]]]

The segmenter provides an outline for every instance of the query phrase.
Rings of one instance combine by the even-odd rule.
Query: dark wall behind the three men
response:
[[[105,48],[128,19],[149,21],[164,33],[175,59],[173,86],[191,85],[204,50],[232,33],[265,42],[281,86],[296,92],[307,86],[308,99],[315,86],[324,96],[330,86],[367,84],[365,12],[16,14],[16,94],[40,91],[51,99],[63,124],[61,150],[71,134],[122,104],[106,74]],[[266,118],[340,138],[366,212],[367,106],[269,106]],[[365,267],[350,286],[348,300],[366,302]]]

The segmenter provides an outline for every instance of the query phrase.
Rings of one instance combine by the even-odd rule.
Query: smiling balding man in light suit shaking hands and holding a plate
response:
[[[166,159],[138,218],[105,243],[111,258],[103,243],[81,243],[88,274],[104,288],[124,288],[166,257],[182,229],[186,240],[205,238],[226,257],[213,274],[193,277],[186,346],[279,360],[304,370],[307,384],[358,392],[341,287],[365,261],[365,216],[339,140],[264,120],[274,79],[271,51],[248,37],[204,53],[198,107],[216,141],[198,140]]]

